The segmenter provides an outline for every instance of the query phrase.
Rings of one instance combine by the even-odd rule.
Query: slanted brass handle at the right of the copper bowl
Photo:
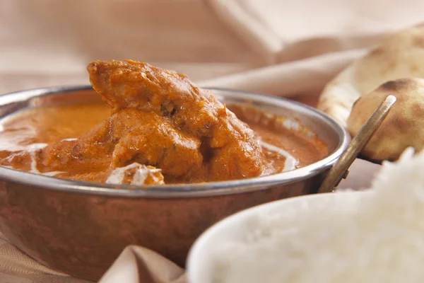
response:
[[[368,118],[365,125],[360,128],[358,134],[353,137],[351,143],[348,145],[343,154],[341,154],[336,164],[329,170],[326,175],[324,182],[319,187],[318,192],[334,192],[334,187],[340,183],[341,179],[346,178],[349,171],[349,167],[358,156],[360,151],[365,147],[368,141],[370,141],[372,135],[377,131],[378,127],[382,124],[384,119],[391,107],[396,102],[395,96],[387,96],[386,99],[379,105],[377,110],[372,113],[371,117]]]

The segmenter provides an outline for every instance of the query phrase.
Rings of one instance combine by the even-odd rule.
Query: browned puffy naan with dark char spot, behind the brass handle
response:
[[[424,79],[388,81],[361,96],[348,118],[348,131],[355,136],[389,94],[396,103],[361,152],[369,160],[393,161],[409,146],[416,151],[424,146]]]

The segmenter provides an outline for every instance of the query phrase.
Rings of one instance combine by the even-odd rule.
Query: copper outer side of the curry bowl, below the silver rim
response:
[[[129,245],[184,266],[201,233],[231,214],[317,191],[322,174],[243,194],[172,199],[118,198],[45,190],[0,181],[0,230],[32,258],[97,280]]]

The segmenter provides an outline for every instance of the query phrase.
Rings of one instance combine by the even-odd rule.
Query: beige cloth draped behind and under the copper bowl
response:
[[[423,21],[420,0],[2,0],[0,93],[88,83],[93,59],[136,59],[201,86],[314,103],[325,83],[382,35]],[[379,166],[355,161],[341,187]],[[100,280],[185,281],[184,270],[128,247]],[[0,283],[85,282],[26,257],[0,236]]]

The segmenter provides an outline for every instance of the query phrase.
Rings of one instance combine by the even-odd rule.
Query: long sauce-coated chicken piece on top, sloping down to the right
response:
[[[88,73],[112,113],[127,108],[155,112],[178,132],[199,139],[207,180],[249,178],[268,168],[252,129],[187,76],[131,60],[94,61]],[[175,156],[189,159],[183,152]]]

